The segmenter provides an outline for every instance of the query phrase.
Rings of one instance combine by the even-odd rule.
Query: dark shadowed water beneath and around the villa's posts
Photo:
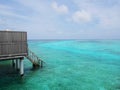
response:
[[[12,66],[11,61],[0,62],[0,90],[8,90],[8,87],[25,86],[38,70],[39,68],[25,68],[25,75],[21,77],[19,71]]]

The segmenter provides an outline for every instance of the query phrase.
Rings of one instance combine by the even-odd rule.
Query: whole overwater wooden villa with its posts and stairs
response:
[[[0,31],[0,61],[11,60],[12,65],[24,75],[24,57],[34,67],[42,67],[43,61],[28,49],[27,32]]]

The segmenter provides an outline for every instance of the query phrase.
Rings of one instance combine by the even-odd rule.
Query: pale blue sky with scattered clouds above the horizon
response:
[[[120,39],[120,0],[0,0],[0,30],[28,39]]]

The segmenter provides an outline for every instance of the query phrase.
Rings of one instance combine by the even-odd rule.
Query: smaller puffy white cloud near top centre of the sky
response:
[[[56,2],[52,3],[52,8],[60,14],[67,14],[69,12],[68,7],[66,5],[63,4],[58,6]]]

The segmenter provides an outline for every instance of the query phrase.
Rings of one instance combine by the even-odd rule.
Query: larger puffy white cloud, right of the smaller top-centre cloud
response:
[[[72,16],[72,20],[74,22],[89,22],[91,21],[92,17],[90,15],[89,12],[82,10],[82,11],[76,11],[73,16]]]

